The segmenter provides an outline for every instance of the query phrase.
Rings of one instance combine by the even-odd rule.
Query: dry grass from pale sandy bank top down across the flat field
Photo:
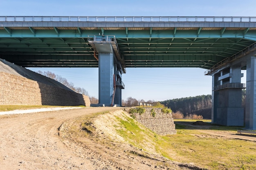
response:
[[[80,123],[77,124],[77,128],[74,128],[76,130],[72,130],[72,135],[82,137],[85,132],[88,134],[86,136],[89,137],[90,132],[95,132],[100,128],[101,133],[103,131],[105,131],[104,134],[111,132],[113,141],[118,137],[119,143],[125,142],[148,153],[155,152],[180,163],[191,163],[209,170],[256,169],[255,141],[221,137],[208,133],[211,131],[218,134],[218,132],[226,131],[229,134],[236,134],[236,130],[240,127],[225,127],[213,124],[192,126],[191,123],[195,120],[187,119],[183,123],[175,121],[177,135],[160,136],[138,124],[126,113],[118,116],[113,115],[113,113],[104,114],[104,116],[98,114],[93,116],[92,119],[86,117],[87,123],[81,121],[82,119],[85,119],[85,117],[76,121],[77,123],[80,121]],[[95,126],[95,120],[99,121],[97,126]],[[81,128],[84,128],[84,130],[81,130]],[[106,138],[104,140],[106,141]],[[97,135],[97,141],[102,141],[100,135]],[[105,142],[105,144],[107,143]]]

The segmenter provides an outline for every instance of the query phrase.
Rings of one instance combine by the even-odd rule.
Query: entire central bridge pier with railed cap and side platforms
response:
[[[122,73],[126,73],[114,35],[94,35],[88,38],[99,57],[99,104],[91,106],[121,106]]]

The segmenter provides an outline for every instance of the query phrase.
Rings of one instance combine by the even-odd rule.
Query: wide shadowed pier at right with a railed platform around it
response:
[[[212,122],[224,126],[243,126],[241,67],[231,66],[214,76],[218,75],[220,75],[218,82],[216,77],[213,78],[215,87],[213,88]]]

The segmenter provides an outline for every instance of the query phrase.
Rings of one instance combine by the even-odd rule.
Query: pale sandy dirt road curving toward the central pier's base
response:
[[[58,128],[69,119],[117,108],[81,108],[0,116],[1,170],[95,170],[59,138]]]

